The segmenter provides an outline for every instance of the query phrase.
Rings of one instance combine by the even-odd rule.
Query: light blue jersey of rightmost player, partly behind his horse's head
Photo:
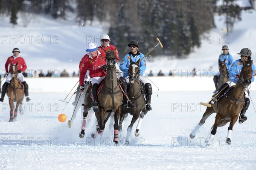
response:
[[[247,65],[249,65],[249,64],[247,64]],[[241,61],[241,59],[236,60],[232,64],[232,66],[230,67],[230,81],[233,81],[236,78],[236,75],[240,74],[242,67],[243,67],[243,62]],[[251,82],[254,81],[254,76],[256,73],[254,64],[252,65],[252,69],[253,69],[253,75],[252,75]],[[238,81],[238,78],[236,80],[234,80],[233,82],[237,83],[237,81]]]

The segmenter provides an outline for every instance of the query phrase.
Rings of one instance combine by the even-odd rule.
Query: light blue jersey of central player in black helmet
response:
[[[137,55],[135,57],[133,57],[131,52],[125,55],[125,57],[123,58],[122,62],[119,65],[120,70],[124,72],[123,77],[129,76],[128,70],[131,64],[130,58],[133,62],[137,62],[139,59],[141,60],[143,57],[144,55],[140,52],[137,52]],[[140,61],[140,75],[145,75],[146,68],[147,68],[146,58],[144,58],[143,61]]]

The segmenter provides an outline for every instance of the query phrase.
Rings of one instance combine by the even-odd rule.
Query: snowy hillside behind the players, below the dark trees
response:
[[[253,61],[256,61],[256,12],[241,12],[242,20],[234,24],[234,31],[230,35],[224,36],[224,44],[230,48],[230,53],[234,59],[239,59],[238,52],[244,47],[252,50]],[[73,19],[73,18],[71,18]],[[70,20],[71,20],[70,19]],[[50,20],[48,16],[37,16],[36,20],[23,28],[22,24],[12,26],[9,24],[9,17],[0,17],[1,22],[1,44],[0,44],[0,68],[4,70],[4,63],[7,57],[12,55],[12,49],[20,48],[20,56],[26,59],[28,69],[33,72],[36,69],[42,69],[44,74],[47,70],[63,69],[71,74],[78,72],[78,63],[86,54],[86,44],[90,41],[96,41],[100,45],[100,39],[103,34],[108,33],[108,24],[94,23],[93,26],[78,26],[71,21]],[[19,23],[22,23],[19,20]],[[248,24],[250,23],[250,24]],[[201,48],[195,49],[187,59],[170,60],[172,56],[158,57],[154,62],[151,56],[148,56],[148,68],[157,74],[160,69],[165,74],[170,69],[177,69],[178,72],[189,72],[194,67],[207,70],[212,68],[215,72],[218,70],[218,55],[221,53],[222,37],[224,26],[224,17],[215,16],[216,28],[210,32],[201,35],[198,40]],[[127,42],[129,43],[129,42]],[[156,41],[157,44],[157,41]],[[155,50],[159,49],[158,46]],[[127,49],[119,49],[129,52]],[[146,51],[141,51],[147,53]],[[122,56],[120,56],[122,58]],[[175,58],[175,56],[173,56]]]

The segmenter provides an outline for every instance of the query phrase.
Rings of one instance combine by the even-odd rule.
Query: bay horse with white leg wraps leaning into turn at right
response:
[[[230,125],[228,127],[226,144],[231,144],[231,134],[233,126],[239,118],[241,110],[244,108],[244,90],[250,85],[252,78],[252,65],[253,61],[250,62],[250,65],[247,65],[243,61],[243,67],[240,72],[239,80],[232,89],[228,90],[224,97],[220,98],[215,102],[212,107],[207,107],[204,115],[195,127],[195,129],[190,134],[190,138],[195,138],[197,131],[204,124],[206,119],[212,114],[217,113],[215,117],[214,125],[211,128],[209,137],[206,138],[206,144],[209,145],[209,142],[212,142],[214,135],[216,134],[217,127],[223,127],[228,122]]]

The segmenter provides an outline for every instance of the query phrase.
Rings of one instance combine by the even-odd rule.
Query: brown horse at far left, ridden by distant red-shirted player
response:
[[[18,76],[18,63],[11,65],[12,80],[10,81],[10,84],[7,90],[7,96],[9,97],[9,104],[11,108],[10,120],[9,120],[10,122],[16,120],[18,107],[20,106],[20,104],[22,104],[22,101],[24,98],[23,85],[20,83],[17,76]],[[14,104],[15,101],[16,101],[16,107]],[[14,116],[13,116],[13,110],[14,110]],[[20,113],[22,113],[21,108],[20,108]]]

